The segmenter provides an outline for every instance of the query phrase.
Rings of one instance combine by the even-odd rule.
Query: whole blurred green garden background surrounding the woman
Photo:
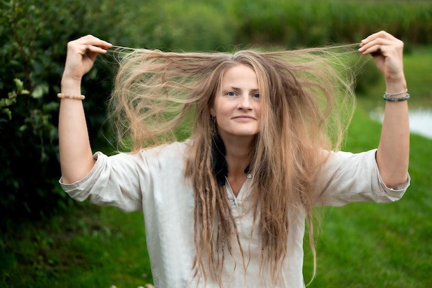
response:
[[[77,203],[61,190],[57,117],[66,44],[92,34],[173,51],[355,44],[379,30],[405,43],[412,184],[394,204],[324,208],[309,287],[432,287],[432,1],[1,0],[0,287],[130,288],[152,282],[142,213]],[[94,151],[112,153],[106,99],[115,64],[98,57],[82,92]],[[384,81],[357,79],[344,148],[375,148]],[[305,242],[304,277],[312,260]]]

